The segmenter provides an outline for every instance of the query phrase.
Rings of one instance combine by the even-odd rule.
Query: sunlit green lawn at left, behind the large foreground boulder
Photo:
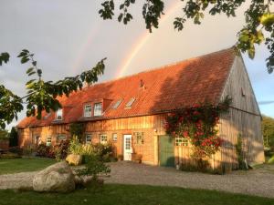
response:
[[[55,159],[44,158],[0,159],[0,175],[45,169],[56,162]]]

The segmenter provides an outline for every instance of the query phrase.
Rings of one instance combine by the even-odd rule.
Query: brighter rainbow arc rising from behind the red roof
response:
[[[168,11],[165,13],[165,15],[163,15],[163,18],[160,19],[159,24],[163,25],[163,23],[166,22],[168,17],[170,15],[173,15],[174,12],[176,12],[178,10],[178,8],[180,8],[180,5],[182,5],[182,2],[180,2],[180,1],[177,1],[174,5],[172,5],[168,9]],[[124,59],[122,60],[121,66],[119,67],[119,69],[115,75],[115,78],[123,77],[125,75],[126,71],[129,68],[129,65],[132,62],[132,59],[138,54],[138,52],[141,50],[142,46],[145,45],[145,43],[150,39],[150,37],[151,37],[151,34],[148,31],[143,32],[143,34],[138,38],[136,43],[132,46],[132,49],[129,52],[129,55],[124,57]]]

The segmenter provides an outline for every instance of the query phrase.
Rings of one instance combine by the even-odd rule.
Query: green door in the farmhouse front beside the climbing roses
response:
[[[163,167],[174,167],[174,138],[159,136],[159,159]]]

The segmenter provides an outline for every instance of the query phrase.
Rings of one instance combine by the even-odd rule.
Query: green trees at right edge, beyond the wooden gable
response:
[[[262,132],[264,136],[264,146],[274,149],[274,118],[262,117]]]

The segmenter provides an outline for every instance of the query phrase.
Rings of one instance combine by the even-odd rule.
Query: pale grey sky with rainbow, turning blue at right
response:
[[[182,2],[164,1],[160,26],[149,33],[142,19],[142,1],[130,8],[133,20],[127,26],[118,23],[117,15],[112,21],[102,20],[98,14],[101,2],[0,0],[0,53],[11,55],[10,62],[0,67],[0,84],[19,96],[26,94],[28,66],[16,58],[24,48],[35,53],[46,80],[75,76],[107,57],[99,82],[215,52],[235,45],[247,8],[243,5],[235,18],[205,15],[200,26],[189,20],[177,32],[173,21],[182,14]],[[268,55],[264,46],[258,46],[255,59],[243,57],[261,113],[274,118],[274,103],[261,104],[274,101],[274,75],[268,74],[265,64]],[[19,120],[25,116],[20,113]],[[16,121],[7,128],[15,125]]]

